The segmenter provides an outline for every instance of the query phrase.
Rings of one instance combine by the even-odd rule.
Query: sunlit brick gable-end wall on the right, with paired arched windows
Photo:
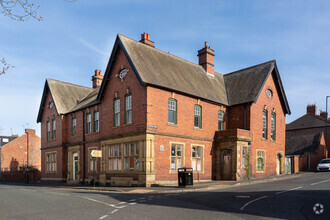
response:
[[[266,95],[266,90],[270,89],[273,92],[273,96],[269,98]],[[285,114],[278,96],[279,91],[277,90],[273,75],[271,74],[262,89],[260,96],[256,103],[251,106],[251,132],[253,136],[253,142],[251,145],[251,157],[250,163],[252,165],[252,175],[262,176],[262,175],[275,175],[276,174],[276,159],[277,154],[281,152],[282,154],[282,170],[284,170],[285,161]],[[267,106],[268,110],[268,137],[267,140],[262,138],[262,115],[264,106]],[[271,113],[275,109],[276,112],[276,140],[271,141]],[[261,149],[266,151],[265,157],[265,172],[257,173],[256,165],[256,150]]]

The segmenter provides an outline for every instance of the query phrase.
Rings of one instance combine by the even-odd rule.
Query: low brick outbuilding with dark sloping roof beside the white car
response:
[[[324,133],[287,136],[285,155],[291,158],[291,172],[316,170],[317,164],[327,158]]]

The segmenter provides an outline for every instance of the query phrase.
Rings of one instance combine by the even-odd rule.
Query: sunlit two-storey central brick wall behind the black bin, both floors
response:
[[[194,128],[194,106],[198,104],[198,99],[187,97],[178,93],[172,96],[172,92],[164,91],[154,87],[148,87],[148,113],[147,124],[157,126],[150,128],[160,133],[169,135],[181,135],[182,137],[160,136],[155,137],[155,172],[156,181],[177,180],[177,172],[170,171],[170,146],[171,142],[185,144],[184,165],[191,167],[191,148],[193,145],[204,146],[204,172],[195,173],[194,179],[210,180],[212,176],[212,144],[215,131],[218,130],[218,111],[225,112],[225,128],[227,127],[227,108],[219,104],[199,101],[202,107],[202,129]],[[168,99],[174,98],[177,101],[177,124],[168,124]],[[184,138],[187,137],[187,138]],[[209,141],[193,140],[188,137],[210,139]],[[164,151],[160,151],[160,146],[164,146]]]

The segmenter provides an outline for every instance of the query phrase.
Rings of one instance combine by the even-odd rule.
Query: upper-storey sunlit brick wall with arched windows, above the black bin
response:
[[[187,97],[178,93],[174,94],[177,101],[177,124],[168,124],[168,99],[172,92],[148,86],[148,125],[156,125],[157,132],[185,135],[190,137],[213,139],[218,130],[218,111],[225,112],[225,127],[227,124],[227,108],[220,104],[212,104],[200,100],[202,107],[202,129],[194,128],[194,106],[198,99]],[[150,130],[155,130],[148,128]]]

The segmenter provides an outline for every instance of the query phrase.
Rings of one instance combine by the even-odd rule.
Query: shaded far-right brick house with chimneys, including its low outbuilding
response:
[[[292,172],[315,170],[326,158],[330,143],[330,120],[326,112],[317,115],[316,105],[307,105],[306,114],[286,125],[286,156]]]

